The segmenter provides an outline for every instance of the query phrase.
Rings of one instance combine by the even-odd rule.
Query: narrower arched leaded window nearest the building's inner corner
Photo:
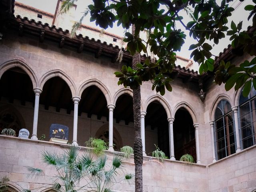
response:
[[[215,110],[215,153],[219,159],[236,152],[233,112],[227,100],[221,100]]]

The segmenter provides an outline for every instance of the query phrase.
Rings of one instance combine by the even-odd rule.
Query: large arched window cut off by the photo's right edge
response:
[[[240,133],[242,148],[256,144],[256,91],[254,87],[247,97],[239,96]]]

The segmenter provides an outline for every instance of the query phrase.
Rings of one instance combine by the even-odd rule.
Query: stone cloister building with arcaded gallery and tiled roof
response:
[[[118,86],[113,75],[131,64],[126,51],[122,63],[116,62],[121,38],[83,25],[80,35],[70,39],[64,29],[70,29],[76,6],[63,16],[10,0],[0,4],[0,129],[30,132],[29,139],[0,136],[0,177],[8,176],[10,189],[49,182],[27,178],[25,166],[45,168],[42,150],[67,147],[48,142],[51,124],[68,126],[68,142],[84,151],[90,137],[106,140],[110,156],[133,146],[132,90]],[[234,56],[231,46],[220,58],[234,64],[252,59]],[[193,62],[179,56],[171,78],[173,91],[164,96],[152,91],[149,82],[141,88],[144,191],[254,192],[255,90],[248,98],[241,90],[226,92],[210,74],[199,76]],[[38,140],[42,134],[45,141]],[[156,162],[154,144],[169,159]],[[186,153],[196,163],[180,162]],[[127,169],[134,171],[132,160]],[[51,174],[48,168],[46,174]],[[134,191],[134,186],[117,183],[114,189]]]

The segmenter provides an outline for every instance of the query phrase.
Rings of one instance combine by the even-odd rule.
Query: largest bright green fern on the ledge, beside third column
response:
[[[104,142],[104,140],[93,137],[89,138],[89,140],[85,142],[85,144],[87,147],[93,148],[93,152],[96,155],[103,154],[104,150],[108,149],[108,145],[106,142]]]

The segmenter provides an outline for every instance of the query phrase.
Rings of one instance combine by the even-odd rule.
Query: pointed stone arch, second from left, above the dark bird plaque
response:
[[[43,90],[46,81],[53,77],[60,77],[62,80],[64,80],[70,88],[72,97],[76,96],[76,85],[74,84],[73,80],[60,69],[50,70],[46,72],[39,80],[39,88]]]

